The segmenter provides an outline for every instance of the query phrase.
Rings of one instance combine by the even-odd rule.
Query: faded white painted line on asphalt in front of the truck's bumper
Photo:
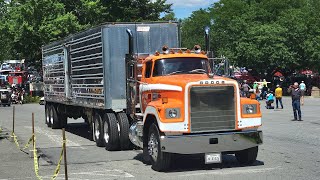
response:
[[[183,177],[183,176],[199,176],[199,175],[231,175],[231,174],[263,173],[263,172],[272,171],[275,169],[281,169],[281,167],[277,166],[273,168],[260,168],[260,169],[228,169],[230,171],[219,170],[219,171],[210,171],[210,172],[203,172],[203,173],[183,174],[179,176]]]

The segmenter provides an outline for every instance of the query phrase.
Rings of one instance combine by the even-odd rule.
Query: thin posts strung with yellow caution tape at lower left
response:
[[[28,142],[21,148],[18,138],[16,134],[14,133],[14,124],[15,124],[15,107],[13,106],[13,124],[12,124],[12,132],[11,132],[11,138],[13,139],[14,143],[16,144],[17,148],[23,152],[24,150],[28,149],[29,146],[33,145],[33,161],[34,161],[34,172],[38,180],[42,180],[42,177],[39,175],[39,161],[38,161],[38,153],[37,153],[37,148],[36,148],[36,136],[35,136],[35,131],[34,131],[34,113],[32,113],[32,135],[29,138]],[[2,129],[0,128],[0,132],[2,132]],[[62,158],[64,159],[64,166],[65,166],[65,179],[68,180],[68,174],[67,174],[67,157],[66,157],[66,137],[65,137],[65,129],[62,129],[62,148],[60,152],[60,158],[57,164],[57,167],[54,171],[53,176],[51,177],[51,180],[55,180],[57,176],[59,175],[60,172],[60,167],[61,167],[61,162]],[[28,152],[25,152],[29,154]]]

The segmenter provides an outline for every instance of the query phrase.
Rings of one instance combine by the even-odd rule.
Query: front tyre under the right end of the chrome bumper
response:
[[[258,146],[238,151],[235,153],[238,162],[242,165],[250,165],[254,163],[258,155]]]

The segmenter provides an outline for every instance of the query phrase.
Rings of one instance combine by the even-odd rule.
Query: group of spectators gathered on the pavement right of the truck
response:
[[[247,97],[256,100],[264,100],[266,103],[267,109],[283,109],[282,103],[282,95],[283,90],[281,85],[277,84],[274,91],[268,88],[268,82],[263,80],[262,82],[255,82],[253,87],[251,88],[246,81],[244,81],[240,85],[241,96]],[[306,91],[306,84],[304,81],[301,81],[299,84],[298,82],[293,83],[287,89],[289,95],[292,99],[292,108],[293,108],[293,116],[294,120],[301,121],[301,108],[300,106],[304,104],[304,94]],[[273,106],[274,101],[276,101],[276,107]]]

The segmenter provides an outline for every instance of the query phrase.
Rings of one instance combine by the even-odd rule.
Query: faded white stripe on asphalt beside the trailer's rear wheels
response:
[[[24,126],[24,127],[27,129],[32,129],[31,126]],[[49,130],[41,129],[40,127],[35,127],[35,132],[36,132],[36,134],[43,134],[43,135],[47,136],[51,141],[56,142],[59,145],[62,144],[62,136],[61,135],[56,135]],[[86,149],[85,147],[82,147],[80,144],[73,142],[71,140],[68,140],[68,139],[67,139],[67,146],[77,147],[80,149]]]

